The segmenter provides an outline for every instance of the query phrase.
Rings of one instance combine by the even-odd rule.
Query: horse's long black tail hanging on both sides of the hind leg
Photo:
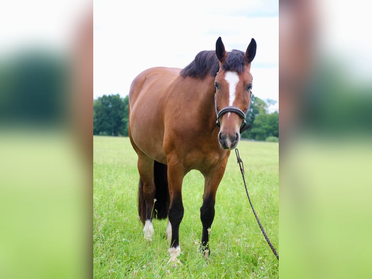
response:
[[[168,189],[168,166],[154,161],[155,204],[152,217],[165,219],[168,217],[169,189]],[[138,214],[143,224],[146,221],[146,202],[143,196],[143,181],[139,179],[138,185]]]

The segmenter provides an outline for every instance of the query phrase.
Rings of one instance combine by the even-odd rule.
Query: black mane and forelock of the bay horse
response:
[[[222,64],[223,70],[236,71],[241,73],[244,70],[245,58],[244,52],[238,50],[232,50],[226,53],[225,62]],[[202,51],[199,52],[195,59],[188,64],[182,71],[183,77],[197,77],[205,78],[207,74],[210,76],[216,76],[220,70],[220,61],[217,59],[215,51]]]

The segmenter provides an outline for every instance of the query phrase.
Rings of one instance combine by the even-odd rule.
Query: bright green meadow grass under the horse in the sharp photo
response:
[[[266,243],[245,194],[232,152],[216,197],[209,261],[198,254],[203,176],[191,171],[183,183],[184,219],[179,259],[173,267],[165,237],[168,220],[154,220],[149,244],[137,218],[139,175],[128,138],[94,137],[94,278],[278,278],[279,262]],[[241,141],[248,191],[271,243],[279,253],[279,145]]]

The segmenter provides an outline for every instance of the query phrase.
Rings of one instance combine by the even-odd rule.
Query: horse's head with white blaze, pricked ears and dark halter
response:
[[[247,51],[226,52],[221,37],[216,42],[220,70],[215,80],[215,105],[218,140],[223,149],[235,149],[246,125],[246,115],[252,98],[251,62],[256,54],[256,42],[251,40]]]

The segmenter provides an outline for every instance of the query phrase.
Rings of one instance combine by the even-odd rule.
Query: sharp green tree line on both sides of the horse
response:
[[[93,135],[128,136],[128,102],[129,97],[103,95],[93,100]],[[252,127],[242,133],[241,137],[251,140],[278,141],[279,113],[269,113],[267,102],[252,95],[252,103],[247,115],[247,123]]]

